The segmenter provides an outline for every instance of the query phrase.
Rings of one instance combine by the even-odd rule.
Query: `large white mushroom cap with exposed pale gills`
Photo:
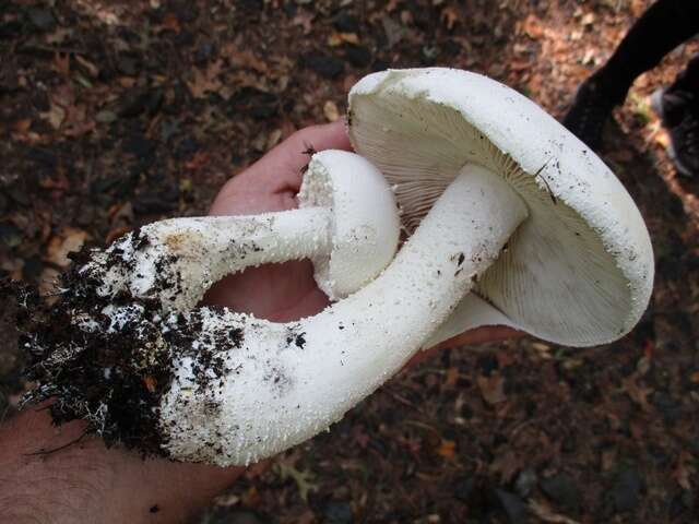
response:
[[[460,70],[383,71],[352,88],[348,133],[396,184],[408,229],[467,164],[510,182],[530,214],[474,291],[513,325],[585,346],[638,322],[654,272],[643,219],[605,164],[526,97]]]

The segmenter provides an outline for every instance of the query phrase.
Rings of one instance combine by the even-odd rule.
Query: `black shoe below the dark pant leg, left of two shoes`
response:
[[[590,78],[578,87],[576,98],[562,123],[592,150],[597,151],[602,145],[604,124],[615,105],[616,102]]]

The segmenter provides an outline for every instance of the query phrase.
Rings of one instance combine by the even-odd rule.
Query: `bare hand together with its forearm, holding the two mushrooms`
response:
[[[311,146],[318,151],[351,148],[340,122],[298,131],[228,181],[211,214],[295,207],[301,168],[308,162],[303,152]],[[315,314],[328,305],[309,261],[248,269],[217,283],[205,300],[277,322]],[[482,327],[433,349],[516,333]],[[420,352],[415,359],[427,354]],[[85,437],[84,428],[83,420],[56,428],[42,407],[27,408],[0,426],[0,515],[12,522],[186,522],[244,473],[240,467],[144,460],[118,446],[105,448],[99,438]]]

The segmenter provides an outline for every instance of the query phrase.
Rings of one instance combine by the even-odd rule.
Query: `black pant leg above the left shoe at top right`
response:
[[[639,75],[697,33],[699,0],[657,0],[636,21],[594,78],[615,104],[621,104]]]

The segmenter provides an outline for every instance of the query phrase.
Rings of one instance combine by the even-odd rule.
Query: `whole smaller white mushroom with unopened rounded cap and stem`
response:
[[[340,299],[374,278],[398,249],[393,194],[365,158],[323,151],[311,158],[299,210],[254,216],[173,218],[146,225],[83,267],[109,261],[99,294],[154,297],[165,309],[193,308],[211,285],[248,266],[309,258],[318,286]],[[114,264],[114,254],[125,261]],[[178,275],[181,275],[179,277]]]

